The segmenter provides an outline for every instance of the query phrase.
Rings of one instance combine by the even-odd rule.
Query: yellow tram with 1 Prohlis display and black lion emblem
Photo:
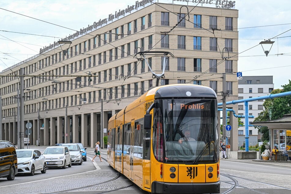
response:
[[[155,87],[108,121],[107,161],[151,193],[219,193],[217,96],[209,87]]]

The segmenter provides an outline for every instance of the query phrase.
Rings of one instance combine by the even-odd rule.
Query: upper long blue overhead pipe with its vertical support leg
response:
[[[266,96],[259,96],[259,97],[254,97],[254,98],[248,98],[248,99],[241,99],[241,100],[233,100],[226,102],[226,105],[229,104],[238,104],[238,103],[244,103],[244,116],[245,116],[245,123],[248,123],[248,102],[251,101],[256,101],[256,100],[265,100],[265,99],[274,99],[278,97],[283,97],[283,96],[290,96],[291,91],[287,92],[282,92],[279,94],[270,94]],[[218,103],[218,106],[222,106],[222,103]],[[245,151],[248,151],[248,125],[245,126]]]

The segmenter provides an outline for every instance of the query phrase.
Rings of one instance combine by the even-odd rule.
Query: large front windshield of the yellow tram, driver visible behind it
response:
[[[219,157],[215,99],[162,99],[155,109],[153,151],[160,162],[212,163]]]

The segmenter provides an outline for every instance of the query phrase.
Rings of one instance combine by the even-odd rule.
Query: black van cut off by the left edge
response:
[[[17,174],[17,155],[14,144],[0,140],[0,177],[13,181]]]

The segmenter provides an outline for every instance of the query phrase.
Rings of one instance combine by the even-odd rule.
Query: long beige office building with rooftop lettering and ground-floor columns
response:
[[[17,91],[22,70],[24,126],[32,124],[29,137],[34,145],[81,142],[94,147],[96,141],[102,142],[111,115],[156,85],[149,66],[154,73],[162,73],[164,56],[151,53],[144,60],[136,55],[140,51],[173,55],[166,56],[160,85],[209,86],[221,102],[222,73],[226,72],[227,100],[236,100],[238,10],[169,2],[125,5],[64,39],[72,43],[48,43],[39,54],[3,70],[2,140],[17,144],[19,139]],[[228,108],[237,110],[237,105]],[[235,126],[232,138],[237,144]]]

